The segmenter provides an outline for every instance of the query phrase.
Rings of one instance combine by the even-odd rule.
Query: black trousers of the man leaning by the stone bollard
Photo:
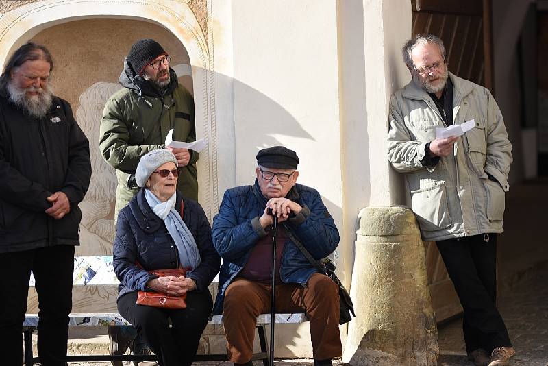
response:
[[[436,242],[464,309],[466,352],[512,347],[497,310],[497,234]]]

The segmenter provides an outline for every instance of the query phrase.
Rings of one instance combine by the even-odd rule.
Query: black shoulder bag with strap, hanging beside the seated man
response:
[[[325,262],[319,262],[318,260],[315,260],[314,257],[306,250],[306,247],[304,247],[303,243],[297,239],[297,237],[291,232],[290,228],[288,228],[288,225],[284,225],[284,228],[286,229],[287,235],[289,236],[289,239],[297,247],[299,250],[306,256],[306,259],[314,266],[316,269],[320,271],[320,273],[325,273],[329,278],[332,279],[333,282],[335,282],[338,286],[338,297],[339,297],[339,320],[338,324],[345,324],[352,320],[352,316],[356,317],[356,314],[354,314],[354,304],[352,303],[352,299],[350,298],[350,295],[345,289],[345,286],[343,286],[342,283],[340,283],[340,280],[338,279],[337,275],[335,274],[335,265],[329,258],[325,259]],[[352,313],[352,316],[350,315]]]

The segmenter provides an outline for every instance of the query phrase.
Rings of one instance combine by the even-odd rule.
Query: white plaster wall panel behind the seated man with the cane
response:
[[[232,2],[236,184],[253,184],[259,149],[297,151],[299,182],[343,221],[337,3]],[[350,239],[353,240],[353,239]],[[346,245],[345,239],[341,245]],[[308,324],[277,327],[289,352],[310,356]],[[284,354],[280,350],[280,356]]]

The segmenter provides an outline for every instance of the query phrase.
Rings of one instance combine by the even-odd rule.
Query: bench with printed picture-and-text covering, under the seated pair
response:
[[[120,314],[116,313],[116,287],[118,280],[112,270],[112,256],[77,257],[73,276],[73,310],[69,326],[128,326]],[[34,286],[34,276],[30,280],[31,288]],[[88,298],[88,301],[82,297]],[[96,299],[97,297],[97,299]],[[95,301],[97,300],[97,301]],[[76,306],[75,306],[76,304]],[[89,312],[82,311],[87,310]],[[29,291],[29,310],[37,308],[36,293],[34,289]],[[102,308],[102,309],[99,309]],[[104,310],[100,313],[99,310]],[[304,314],[284,314],[275,316],[276,324],[298,324],[308,321]],[[208,324],[223,324],[223,316],[215,315]],[[266,340],[265,326],[270,324],[270,315],[262,314],[257,317],[257,330],[259,335],[260,352],[253,354],[253,360],[262,360],[264,366],[269,365],[269,346]],[[23,323],[23,349],[25,353],[25,365],[31,366],[39,362],[38,357],[32,354],[32,332],[38,328],[38,314],[27,313]],[[105,361],[155,361],[155,355],[70,355],[66,357],[69,362],[105,362]],[[227,354],[197,354],[195,361],[227,361]]]

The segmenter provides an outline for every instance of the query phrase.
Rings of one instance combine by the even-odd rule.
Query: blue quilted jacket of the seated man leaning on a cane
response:
[[[257,181],[255,186],[239,186],[227,190],[219,214],[213,219],[213,244],[223,258],[214,315],[223,313],[225,290],[247,263],[255,243],[266,235],[259,223],[266,199],[263,197],[259,200],[253,193],[253,187],[260,194]],[[286,198],[303,207],[299,215],[284,222],[286,228],[297,236],[315,259],[319,260],[331,254],[338,245],[338,230],[318,191],[295,184]],[[306,284],[317,269],[288,239],[279,271],[282,282]]]

